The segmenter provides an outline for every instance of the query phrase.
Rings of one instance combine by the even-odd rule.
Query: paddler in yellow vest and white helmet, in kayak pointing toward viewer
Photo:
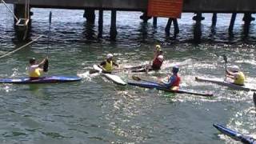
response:
[[[100,64],[103,73],[111,73],[114,70],[114,66],[118,66],[117,63],[113,61],[113,54],[107,54],[106,60]]]

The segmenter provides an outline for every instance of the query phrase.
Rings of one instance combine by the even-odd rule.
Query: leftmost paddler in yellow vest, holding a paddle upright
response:
[[[44,71],[42,67],[45,65],[48,58],[44,58],[42,62],[37,63],[35,58],[30,58],[30,66],[29,66],[29,77],[30,80],[40,78],[42,72]]]

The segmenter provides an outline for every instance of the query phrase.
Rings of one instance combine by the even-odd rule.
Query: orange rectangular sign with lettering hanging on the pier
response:
[[[149,0],[147,16],[181,18],[183,0]]]

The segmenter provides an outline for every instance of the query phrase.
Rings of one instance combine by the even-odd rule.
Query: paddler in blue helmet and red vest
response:
[[[173,75],[169,76],[167,82],[162,82],[168,89],[170,90],[178,90],[179,83],[181,82],[181,78],[178,76],[179,68],[178,66],[173,67]]]

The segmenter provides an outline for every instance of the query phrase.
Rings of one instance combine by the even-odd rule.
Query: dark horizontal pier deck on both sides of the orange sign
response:
[[[24,4],[25,0],[6,0],[7,3]],[[38,8],[96,10],[131,10],[147,9],[147,0],[33,0],[30,6]],[[184,0],[183,12],[201,13],[256,13],[255,0]]]

